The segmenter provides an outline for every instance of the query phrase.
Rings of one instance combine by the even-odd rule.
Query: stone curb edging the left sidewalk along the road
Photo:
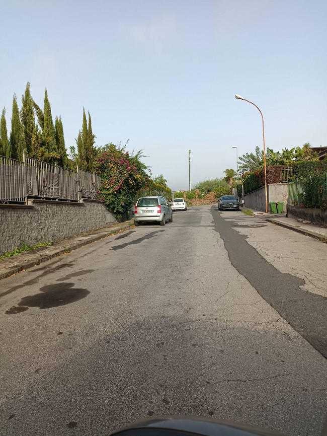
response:
[[[32,268],[33,266],[39,265],[40,263],[46,262],[47,260],[53,259],[54,257],[60,256],[64,253],[68,253],[71,250],[76,250],[77,248],[92,244],[92,242],[99,241],[100,239],[107,238],[108,236],[114,235],[118,232],[122,232],[124,230],[130,229],[130,227],[131,227],[131,224],[125,225],[117,230],[113,230],[112,233],[108,229],[108,232],[104,233],[103,235],[96,235],[96,236],[91,237],[90,239],[86,239],[84,241],[78,241],[75,243],[67,244],[66,248],[64,248],[64,249],[61,248],[59,250],[54,251],[51,254],[47,254],[45,256],[40,256],[39,258],[37,258],[33,261],[28,261],[28,262],[24,263],[22,260],[21,264],[14,266],[14,267],[11,267],[11,268],[9,267],[9,268],[7,268],[7,271],[5,271],[5,272],[0,272],[0,280],[3,278],[10,277],[11,275],[17,274],[19,272],[22,272],[28,268]],[[62,240],[57,241],[57,242],[62,242]],[[38,250],[38,248],[36,248],[35,250]],[[33,252],[33,250],[29,250],[27,253],[32,253],[32,252]],[[4,294],[6,294],[6,292]],[[4,294],[0,293],[0,296],[2,296]]]

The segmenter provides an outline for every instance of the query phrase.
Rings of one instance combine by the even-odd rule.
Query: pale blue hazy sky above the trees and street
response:
[[[83,106],[97,145],[129,138],[169,186],[222,177],[240,155],[326,146],[327,2],[0,0],[0,108],[26,82],[74,145]]]

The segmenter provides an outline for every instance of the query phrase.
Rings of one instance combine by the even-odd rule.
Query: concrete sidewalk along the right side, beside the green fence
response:
[[[294,218],[288,218],[285,213],[264,213],[259,210],[253,210],[253,213],[269,223],[327,242],[327,228],[325,227],[319,227],[316,224],[300,223]]]

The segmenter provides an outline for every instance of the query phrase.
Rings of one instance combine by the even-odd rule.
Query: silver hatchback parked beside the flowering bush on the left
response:
[[[165,226],[166,221],[173,222],[173,211],[168,201],[163,197],[141,197],[137,200],[134,214],[134,224],[158,222]]]

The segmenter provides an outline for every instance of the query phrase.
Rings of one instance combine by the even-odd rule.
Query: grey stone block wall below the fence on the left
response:
[[[114,216],[99,201],[30,200],[28,206],[0,205],[0,255],[20,243],[54,242],[109,226]]]

